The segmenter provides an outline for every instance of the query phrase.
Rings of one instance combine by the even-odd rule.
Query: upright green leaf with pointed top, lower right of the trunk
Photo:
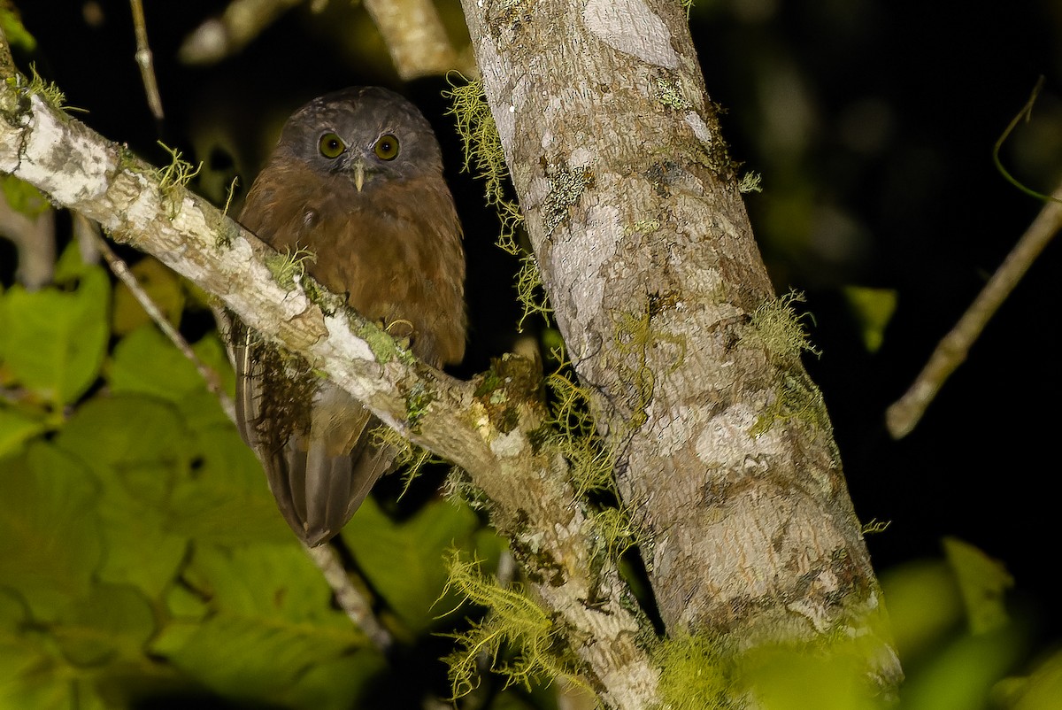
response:
[[[1003,563],[969,542],[952,537],[944,538],[944,554],[959,580],[970,630],[984,633],[1006,626],[1004,595],[1014,586],[1014,578]]]

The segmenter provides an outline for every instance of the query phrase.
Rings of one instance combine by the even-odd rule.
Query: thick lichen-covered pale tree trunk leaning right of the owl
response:
[[[879,589],[674,0],[464,0],[669,632],[873,636]],[[898,677],[887,640],[868,659]]]

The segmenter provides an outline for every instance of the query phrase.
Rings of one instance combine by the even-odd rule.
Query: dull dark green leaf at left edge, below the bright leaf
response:
[[[98,487],[83,466],[42,441],[0,470],[0,579],[36,619],[51,619],[88,591],[100,564]]]

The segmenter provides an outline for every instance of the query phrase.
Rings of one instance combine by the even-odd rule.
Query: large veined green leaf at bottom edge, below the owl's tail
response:
[[[293,539],[237,550],[202,545],[185,582],[210,613],[202,623],[168,625],[154,653],[229,697],[352,707],[350,677],[364,673],[354,652],[364,637],[331,608],[331,590]],[[308,704],[308,695],[321,705]]]

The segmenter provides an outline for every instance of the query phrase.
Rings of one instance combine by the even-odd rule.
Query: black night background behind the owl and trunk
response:
[[[162,138],[217,175],[250,185],[279,122],[304,101],[380,83],[414,100],[436,125],[469,254],[473,342],[465,370],[511,345],[514,265],[493,246],[496,218],[461,174],[442,79],[402,85],[364,11],[333,1],[321,15],[287,13],[219,64],[176,60],[183,38],[224,3],[148,0],[148,30],[165,123],[143,99],[129,3],[17,3],[39,46],[35,61],[89,125],[155,164]],[[98,17],[86,20],[86,5]],[[459,10],[443,5],[464,47]],[[92,10],[90,7],[90,10]],[[93,11],[95,12],[95,11]],[[1041,74],[1033,120],[1003,159],[1050,191],[1062,174],[1062,4],[1051,0],[703,1],[691,26],[708,92],[727,109],[737,159],[764,176],[747,204],[780,292],[807,294],[807,367],[836,427],[856,510],[891,521],[868,539],[888,570],[938,556],[944,535],[1003,560],[1014,608],[1038,641],[1062,636],[1056,598],[1059,456],[1057,244],[1033,266],[920,426],[892,441],[887,406],[922,368],[1041,205],[998,174],[991,151]],[[223,201],[221,178],[196,189]],[[0,240],[0,277],[11,277]],[[884,345],[869,353],[841,288],[895,290]]]

